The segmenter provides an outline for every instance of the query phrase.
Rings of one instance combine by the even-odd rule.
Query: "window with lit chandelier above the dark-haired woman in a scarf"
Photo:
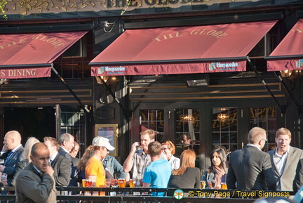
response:
[[[213,145],[237,150],[238,121],[236,107],[213,108]]]

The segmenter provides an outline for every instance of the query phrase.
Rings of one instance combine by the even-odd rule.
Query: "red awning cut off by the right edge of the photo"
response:
[[[303,19],[300,19],[267,59],[267,70],[303,69]]]

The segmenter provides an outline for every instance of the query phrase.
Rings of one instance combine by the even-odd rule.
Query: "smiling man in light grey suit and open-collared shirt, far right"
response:
[[[297,190],[296,174],[299,160],[303,159],[303,150],[290,146],[291,133],[288,129],[281,128],[276,131],[275,150],[269,151],[271,165],[276,178],[278,190]]]

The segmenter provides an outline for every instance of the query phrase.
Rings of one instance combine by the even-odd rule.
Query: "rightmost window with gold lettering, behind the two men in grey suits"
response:
[[[250,129],[258,126],[267,131],[268,143],[264,150],[271,150],[276,146],[276,107],[253,107],[250,108]]]

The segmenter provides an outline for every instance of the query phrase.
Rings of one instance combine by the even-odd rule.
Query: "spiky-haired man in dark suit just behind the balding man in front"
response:
[[[59,155],[58,150],[60,145],[58,140],[51,137],[44,138],[44,144],[50,151],[50,166],[54,169],[53,177],[55,178],[56,186],[67,186],[70,181],[70,165],[69,160],[62,155]]]

